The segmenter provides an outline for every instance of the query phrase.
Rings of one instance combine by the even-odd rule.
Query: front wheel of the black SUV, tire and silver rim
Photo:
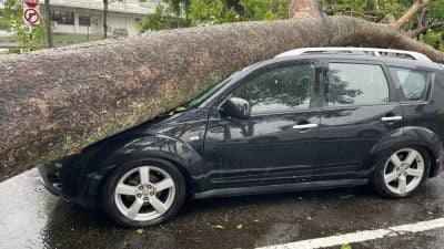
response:
[[[182,207],[185,180],[173,164],[139,159],[117,167],[101,191],[101,206],[124,227],[148,227],[173,217]]]

